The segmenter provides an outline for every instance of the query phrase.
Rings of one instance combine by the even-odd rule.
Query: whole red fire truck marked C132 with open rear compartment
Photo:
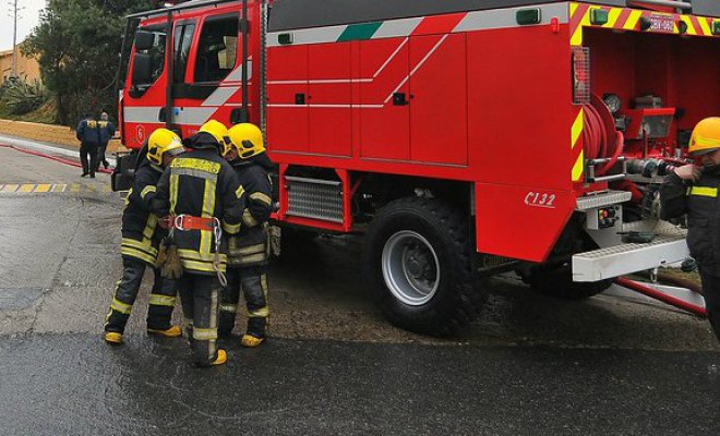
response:
[[[720,112],[720,4],[193,0],[130,16],[122,59],[125,146],[260,124],[275,221],[365,233],[389,320],[444,334],[497,272],[581,299],[687,257],[657,192]]]

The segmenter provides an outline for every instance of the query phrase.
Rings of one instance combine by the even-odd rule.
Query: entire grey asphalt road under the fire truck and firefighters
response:
[[[273,265],[271,339],[226,341],[225,367],[196,370],[182,340],[144,335],[148,283],[125,346],[107,347],[122,196],[106,174],[79,175],[0,146],[0,435],[720,434],[706,322],[502,278],[467,331],[425,338],[371,304],[356,238]]]

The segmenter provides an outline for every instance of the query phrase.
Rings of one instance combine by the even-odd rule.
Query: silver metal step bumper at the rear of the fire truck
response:
[[[685,261],[684,235],[659,235],[647,244],[620,244],[573,256],[573,281],[600,281]]]

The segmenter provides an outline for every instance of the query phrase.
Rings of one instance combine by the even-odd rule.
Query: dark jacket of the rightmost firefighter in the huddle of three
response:
[[[272,207],[273,184],[267,175],[272,162],[264,153],[251,159],[231,162],[244,190],[240,232],[228,240],[228,266],[264,264],[269,254],[267,220]]]

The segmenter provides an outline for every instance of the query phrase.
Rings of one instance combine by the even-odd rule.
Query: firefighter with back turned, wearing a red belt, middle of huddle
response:
[[[235,234],[242,222],[242,186],[223,159],[227,129],[211,120],[185,142],[188,152],[172,161],[157,186],[153,204],[167,222],[182,265],[178,289],[184,332],[199,366],[221,365],[217,316],[225,284],[221,234]]]

